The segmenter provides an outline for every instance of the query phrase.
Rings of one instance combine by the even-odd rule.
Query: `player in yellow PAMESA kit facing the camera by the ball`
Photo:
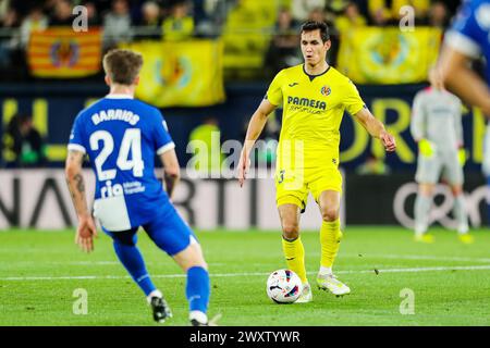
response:
[[[344,111],[360,122],[371,136],[380,139],[387,151],[394,151],[396,147],[393,136],[369,112],[353,83],[327,63],[330,45],[326,23],[309,21],[303,24],[301,48],[305,63],[284,69],[275,75],[267,96],[250,119],[238,163],[238,181],[243,186],[255,140],[262,132],[267,116],[282,104],[275,165],[277,204],[287,268],[303,282],[298,302],[313,299],[299,237],[299,216],[309,191],[323,220],[317,285],[338,296],[351,291],[332,273],[342,238],[339,222],[342,176],[338,166],[339,128]]]

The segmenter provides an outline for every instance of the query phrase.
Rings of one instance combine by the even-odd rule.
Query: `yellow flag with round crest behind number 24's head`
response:
[[[156,107],[205,107],[224,101],[220,40],[142,41],[124,45],[143,54],[136,97]]]

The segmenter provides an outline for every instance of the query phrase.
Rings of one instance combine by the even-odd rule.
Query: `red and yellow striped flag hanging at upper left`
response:
[[[74,32],[71,27],[52,27],[33,32],[27,48],[30,73],[36,77],[84,77],[101,67],[102,32]]]

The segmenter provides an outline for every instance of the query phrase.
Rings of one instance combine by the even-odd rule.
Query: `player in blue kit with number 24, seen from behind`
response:
[[[138,53],[107,53],[103,69],[110,94],[83,110],[74,122],[65,173],[78,216],[75,241],[91,251],[97,234],[82,174],[84,156],[88,154],[96,174],[94,215],[112,237],[119,260],[147,296],[154,319],[163,322],[171,311],[136,247],[139,226],[187,273],[191,323],[207,325],[207,264],[196,236],[170,201],[180,176],[175,145],[160,111],[133,99],[142,65]],[[155,176],[155,154],[164,165],[167,192]]]

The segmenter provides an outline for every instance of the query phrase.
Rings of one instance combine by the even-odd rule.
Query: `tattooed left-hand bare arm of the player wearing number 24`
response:
[[[75,243],[86,252],[94,250],[94,236],[97,236],[97,228],[87,208],[85,197],[85,182],[82,173],[84,152],[69,150],[65,162],[65,176],[68,187],[72,195],[73,206],[78,216],[78,227],[76,229]]]

